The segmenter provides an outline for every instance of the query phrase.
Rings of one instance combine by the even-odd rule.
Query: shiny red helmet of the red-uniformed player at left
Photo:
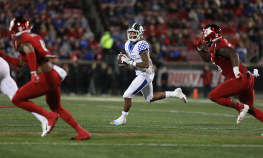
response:
[[[11,32],[11,36],[13,38],[14,36],[21,35],[22,33],[30,33],[31,28],[26,18],[16,16],[10,22],[9,31]]]

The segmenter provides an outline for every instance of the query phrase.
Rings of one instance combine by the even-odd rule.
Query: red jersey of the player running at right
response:
[[[233,71],[233,65],[228,57],[223,57],[218,55],[218,50],[223,47],[232,47],[233,46],[225,38],[218,39],[210,47],[210,56],[211,62],[214,64],[219,72],[222,73],[226,78],[234,78],[235,74]],[[239,62],[239,71],[240,73],[245,73],[248,69]]]

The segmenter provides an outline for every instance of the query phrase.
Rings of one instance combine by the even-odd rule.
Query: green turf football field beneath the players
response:
[[[237,98],[233,98],[237,100]],[[98,101],[100,100],[100,101]],[[32,100],[49,109],[45,98]],[[122,112],[122,97],[62,97],[62,105],[91,133],[88,141],[70,141],[73,128],[61,118],[53,133],[41,137],[41,123],[20,108],[0,108],[0,157],[262,157],[263,123],[247,114],[200,98],[146,103],[141,96],[122,126],[110,125]],[[0,105],[12,105],[0,95]],[[255,107],[263,110],[263,101]],[[10,132],[10,133],[6,133]],[[28,132],[28,133],[27,133]],[[133,134],[127,134],[133,133]],[[146,134],[142,134],[146,133]],[[163,135],[161,135],[163,134]]]

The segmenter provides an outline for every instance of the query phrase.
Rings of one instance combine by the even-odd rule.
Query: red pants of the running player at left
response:
[[[28,82],[16,91],[12,102],[24,110],[48,117],[49,112],[47,110],[29,101],[31,98],[45,95],[49,108],[59,113],[65,122],[75,128],[78,125],[77,121],[60,104],[60,84],[61,78],[55,70],[42,73],[39,75],[39,84],[35,85],[32,81]]]

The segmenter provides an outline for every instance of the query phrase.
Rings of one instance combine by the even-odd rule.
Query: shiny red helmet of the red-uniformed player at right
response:
[[[203,45],[211,46],[219,38],[222,38],[222,31],[217,25],[209,24],[203,28],[201,35]]]

